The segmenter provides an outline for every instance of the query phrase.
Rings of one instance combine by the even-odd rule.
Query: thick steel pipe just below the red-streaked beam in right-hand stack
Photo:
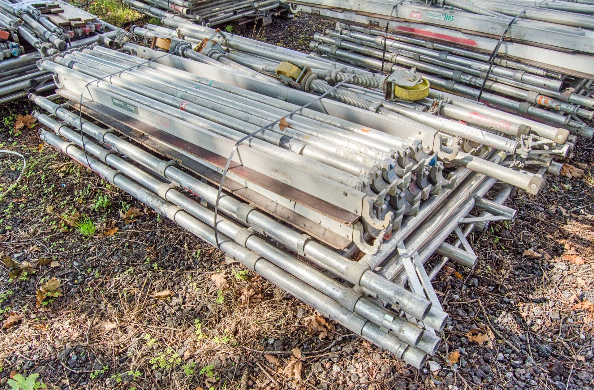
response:
[[[314,34],[314,40],[317,40],[315,38],[317,36],[316,34],[318,34],[319,36],[320,33]],[[440,52],[438,50],[429,49],[425,46],[419,47],[416,45],[411,45],[409,43],[399,42],[394,39],[386,39],[386,37],[384,36],[372,36],[369,34],[360,33],[358,31],[346,29],[341,29],[340,31],[330,30],[330,28],[324,30],[324,34],[338,38],[350,37],[353,40],[361,40],[362,42],[368,43],[369,45],[374,45],[376,47],[382,48],[384,47],[385,40],[387,47],[402,50],[398,51],[398,53],[405,56],[413,56],[412,53],[415,53],[417,55],[424,55],[438,59],[441,63],[445,63],[444,66],[448,66],[447,63],[451,63],[454,65],[466,66],[466,68],[472,68],[483,72],[486,72],[489,69],[489,65],[486,62],[479,62],[473,59],[467,59],[462,56],[457,56],[455,54],[448,52]],[[508,69],[505,68],[505,66],[494,65],[491,68],[491,73],[511,78],[513,80],[523,81],[528,84],[538,85],[539,87],[545,87],[554,91],[560,91],[561,87],[563,87],[563,81],[551,80],[549,78],[533,75],[530,73],[526,73],[524,71]]]

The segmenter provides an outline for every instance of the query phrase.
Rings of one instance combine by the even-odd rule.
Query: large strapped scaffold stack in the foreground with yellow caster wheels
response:
[[[31,94],[42,139],[421,367],[448,318],[432,278],[447,261],[473,268],[466,236],[513,220],[512,186],[537,194],[576,135],[433,96],[417,71],[163,22],[175,30],[131,28],[151,48],[122,40],[38,62],[69,104]]]

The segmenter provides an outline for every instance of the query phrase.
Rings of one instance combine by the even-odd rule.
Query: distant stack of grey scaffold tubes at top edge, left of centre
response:
[[[263,20],[286,11],[280,0],[124,0],[130,8],[150,17],[179,17],[206,26]]]

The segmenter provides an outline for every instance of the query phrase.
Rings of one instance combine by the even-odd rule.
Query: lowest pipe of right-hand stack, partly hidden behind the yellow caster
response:
[[[315,42],[318,45],[315,45],[315,50],[317,50],[320,54],[333,56],[335,58],[340,58],[346,61],[353,61],[356,65],[363,65],[366,68],[380,70],[382,68],[382,62],[380,59],[369,58],[364,55],[359,55],[356,53],[347,52],[343,49],[337,49],[336,47],[331,47],[328,45],[321,44],[319,42]],[[391,66],[394,65],[394,66]],[[391,62],[388,64],[384,64],[383,66],[384,71],[392,72],[396,69],[405,69],[401,66],[397,66],[396,64],[392,64]],[[476,99],[478,97],[479,90],[476,88],[469,87],[467,85],[463,85],[461,83],[456,83],[453,80],[443,80],[441,78],[435,77],[434,75],[422,74],[422,77],[426,78],[429,83],[431,83],[432,87],[439,88],[440,90],[446,91],[454,91],[457,93],[465,94],[466,96],[470,96]],[[526,115],[532,116],[534,118],[539,118],[545,121],[549,121],[555,123],[556,125],[567,125],[569,119],[566,116],[541,109],[535,106],[532,106],[530,103],[520,103],[516,100],[511,100],[507,97],[500,96],[494,93],[489,93],[484,91],[481,94],[481,100],[484,102],[496,104],[497,106],[505,107],[505,109],[513,110],[514,112],[524,113]]]

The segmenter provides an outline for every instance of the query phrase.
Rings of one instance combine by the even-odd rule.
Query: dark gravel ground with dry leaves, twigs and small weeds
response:
[[[298,16],[258,36],[307,50],[324,26]],[[27,158],[0,201],[0,388],[34,373],[51,389],[592,388],[592,141],[565,161],[582,176],[515,192],[514,223],[470,236],[473,271],[438,275],[451,320],[416,370],[40,145],[37,126],[15,131],[32,109],[0,109],[0,148]],[[20,170],[0,157],[0,192]]]

